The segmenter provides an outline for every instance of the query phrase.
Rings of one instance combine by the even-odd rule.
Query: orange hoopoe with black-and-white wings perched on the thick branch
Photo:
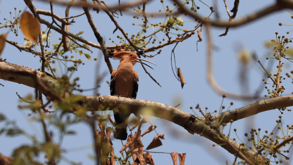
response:
[[[134,51],[127,49],[111,50],[108,55],[113,58],[120,59],[120,64],[118,65],[117,70],[113,70],[111,74],[111,95],[136,98],[138,90],[138,74],[134,71],[133,65],[137,62],[147,65],[139,60],[147,61],[149,63],[152,62],[137,58],[137,54]],[[150,67],[149,65],[147,66]],[[116,132],[114,133],[114,137],[116,139],[125,140],[127,138],[126,128],[129,115],[130,113],[114,112],[114,119],[116,123]]]

